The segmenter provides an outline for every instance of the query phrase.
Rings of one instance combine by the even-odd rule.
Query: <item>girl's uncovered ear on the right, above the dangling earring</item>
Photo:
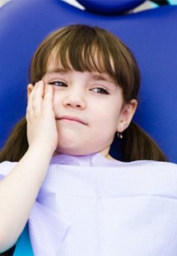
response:
[[[120,118],[119,118],[119,124],[117,131],[118,132],[123,132],[123,130],[127,129],[129,126],[130,122],[133,119],[133,115],[137,109],[137,100],[133,99],[131,102],[128,104],[123,105],[123,109],[120,113]]]

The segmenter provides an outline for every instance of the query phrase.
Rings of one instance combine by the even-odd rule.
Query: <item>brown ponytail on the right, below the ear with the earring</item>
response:
[[[123,131],[123,161],[134,160],[168,161],[156,142],[140,126],[131,121],[128,129]]]

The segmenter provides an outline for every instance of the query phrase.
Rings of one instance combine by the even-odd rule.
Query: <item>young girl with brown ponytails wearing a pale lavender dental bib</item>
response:
[[[136,60],[108,31],[66,26],[41,43],[0,155],[0,252],[28,221],[37,256],[176,255],[177,168],[132,121],[138,90]]]

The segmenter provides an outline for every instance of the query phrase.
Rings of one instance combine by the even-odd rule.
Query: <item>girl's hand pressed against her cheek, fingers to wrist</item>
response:
[[[58,145],[58,131],[53,108],[54,89],[44,81],[28,85],[26,109],[27,138],[29,148],[49,150],[50,154]],[[47,151],[48,152],[48,151]]]

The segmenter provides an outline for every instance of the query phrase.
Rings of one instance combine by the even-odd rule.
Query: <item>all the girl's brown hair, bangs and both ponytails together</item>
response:
[[[35,84],[47,71],[54,56],[56,67],[76,71],[108,73],[122,88],[124,102],[137,99],[140,73],[137,61],[119,38],[97,26],[66,26],[49,35],[36,50],[30,64],[30,83]],[[166,161],[150,136],[133,121],[123,132],[123,160],[152,159]],[[21,120],[4,145],[0,161],[18,161],[28,148],[26,119]]]

